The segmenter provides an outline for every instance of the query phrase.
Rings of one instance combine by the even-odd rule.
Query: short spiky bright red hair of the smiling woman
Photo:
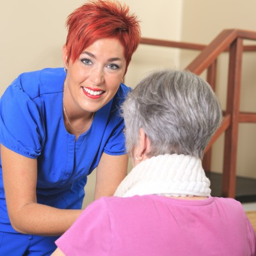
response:
[[[83,4],[67,18],[67,61],[75,61],[83,50],[100,38],[116,38],[124,46],[126,70],[140,44],[140,24],[129,6],[118,1],[96,0]]]

